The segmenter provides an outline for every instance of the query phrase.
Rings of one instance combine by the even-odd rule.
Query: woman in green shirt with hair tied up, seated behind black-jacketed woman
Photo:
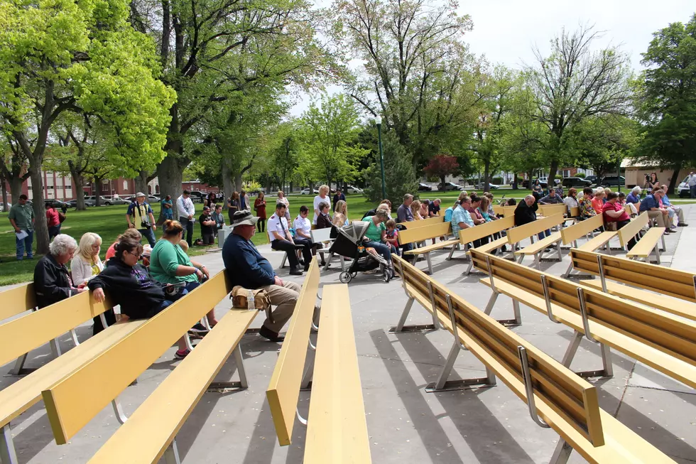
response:
[[[150,254],[150,274],[163,284],[183,284],[187,292],[193,291],[210,278],[207,269],[200,263],[191,261],[179,246],[184,228],[178,221],[167,220],[162,228],[164,234],[155,244]],[[207,313],[210,327],[217,324],[214,309]]]

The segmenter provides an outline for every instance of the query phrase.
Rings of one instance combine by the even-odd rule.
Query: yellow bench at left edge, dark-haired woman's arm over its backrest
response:
[[[82,323],[111,309],[108,301],[97,303],[89,292],[80,293],[50,306],[22,315],[0,325],[0,365],[22,358],[31,350],[55,340]],[[56,357],[39,369],[30,372],[0,391],[0,460],[16,463],[11,433],[11,421],[27,411],[41,399],[41,391],[77,369],[99,352],[120,340],[139,321],[128,324],[117,323]],[[106,324],[105,324],[106,326]],[[22,336],[18,337],[17,334]],[[56,346],[58,344],[56,343]]]

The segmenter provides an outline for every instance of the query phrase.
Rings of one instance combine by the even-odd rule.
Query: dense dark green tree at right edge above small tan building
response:
[[[641,63],[648,69],[637,83],[638,114],[645,130],[642,158],[674,170],[696,163],[696,14],[653,33]]]

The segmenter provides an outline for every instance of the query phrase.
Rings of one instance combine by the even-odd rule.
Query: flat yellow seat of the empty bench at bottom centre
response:
[[[348,286],[322,293],[305,464],[371,463]]]

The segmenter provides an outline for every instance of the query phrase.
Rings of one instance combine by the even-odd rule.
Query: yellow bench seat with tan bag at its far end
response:
[[[225,314],[89,463],[158,462],[258,313]]]

